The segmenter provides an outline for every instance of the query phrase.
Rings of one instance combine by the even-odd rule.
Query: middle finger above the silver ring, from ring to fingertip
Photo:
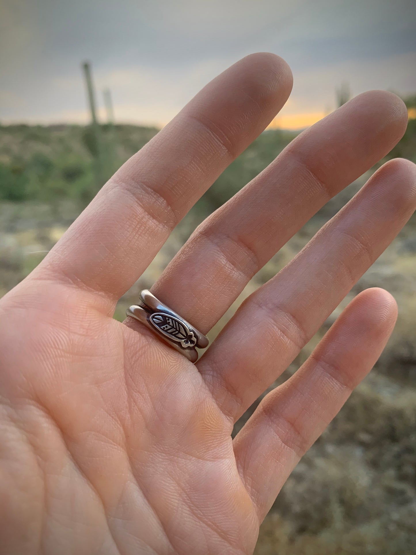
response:
[[[313,125],[196,229],[152,292],[206,333],[319,208],[393,148],[406,124],[402,100],[372,91]]]

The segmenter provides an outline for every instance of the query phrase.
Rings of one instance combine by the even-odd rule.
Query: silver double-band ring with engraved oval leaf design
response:
[[[156,332],[191,362],[196,362],[198,359],[195,347],[205,349],[209,344],[209,339],[205,335],[156,299],[148,289],[140,292],[140,305],[129,306],[126,315],[139,320],[151,331]]]

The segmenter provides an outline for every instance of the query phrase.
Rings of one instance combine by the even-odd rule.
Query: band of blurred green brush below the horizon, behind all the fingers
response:
[[[416,109],[416,97],[406,102],[409,109]],[[157,131],[134,125],[102,125],[103,183]],[[217,179],[199,206],[210,211],[218,208],[294,137],[296,133],[282,130],[268,130],[260,135]],[[90,126],[0,126],[0,200],[53,204],[72,199],[84,206],[103,184],[95,179],[96,150]],[[416,159],[416,119],[409,120],[407,132],[389,157]]]

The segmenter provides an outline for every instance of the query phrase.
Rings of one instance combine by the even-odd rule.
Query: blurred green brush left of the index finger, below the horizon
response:
[[[103,181],[157,131],[104,125]],[[72,199],[87,204],[102,185],[94,179],[95,148],[89,126],[0,127],[0,200],[53,204]]]

